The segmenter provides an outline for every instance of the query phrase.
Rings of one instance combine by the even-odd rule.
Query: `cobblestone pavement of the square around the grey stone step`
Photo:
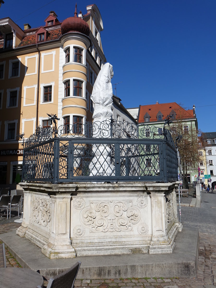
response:
[[[192,191],[192,190],[191,190]],[[193,191],[192,191],[193,192]],[[216,286],[216,194],[202,194],[200,208],[181,206],[181,221],[184,227],[199,228],[200,249],[198,258],[197,278],[128,278],[128,279],[77,279],[75,287],[92,288],[213,288]],[[189,192],[189,197],[193,193]],[[188,203],[190,199],[183,197],[182,202]],[[0,219],[0,234],[17,229],[20,224]],[[7,266],[19,267],[16,259],[6,250]]]

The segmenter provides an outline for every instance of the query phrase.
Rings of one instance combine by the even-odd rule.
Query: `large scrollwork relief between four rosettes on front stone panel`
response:
[[[80,214],[80,221],[91,232],[120,232],[132,230],[141,215],[132,201],[91,201]]]

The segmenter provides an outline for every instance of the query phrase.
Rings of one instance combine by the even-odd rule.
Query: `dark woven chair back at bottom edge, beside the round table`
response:
[[[49,278],[47,288],[73,288],[80,265],[81,262],[78,261],[65,272],[62,272],[54,278]],[[42,287],[37,286],[37,288]]]

